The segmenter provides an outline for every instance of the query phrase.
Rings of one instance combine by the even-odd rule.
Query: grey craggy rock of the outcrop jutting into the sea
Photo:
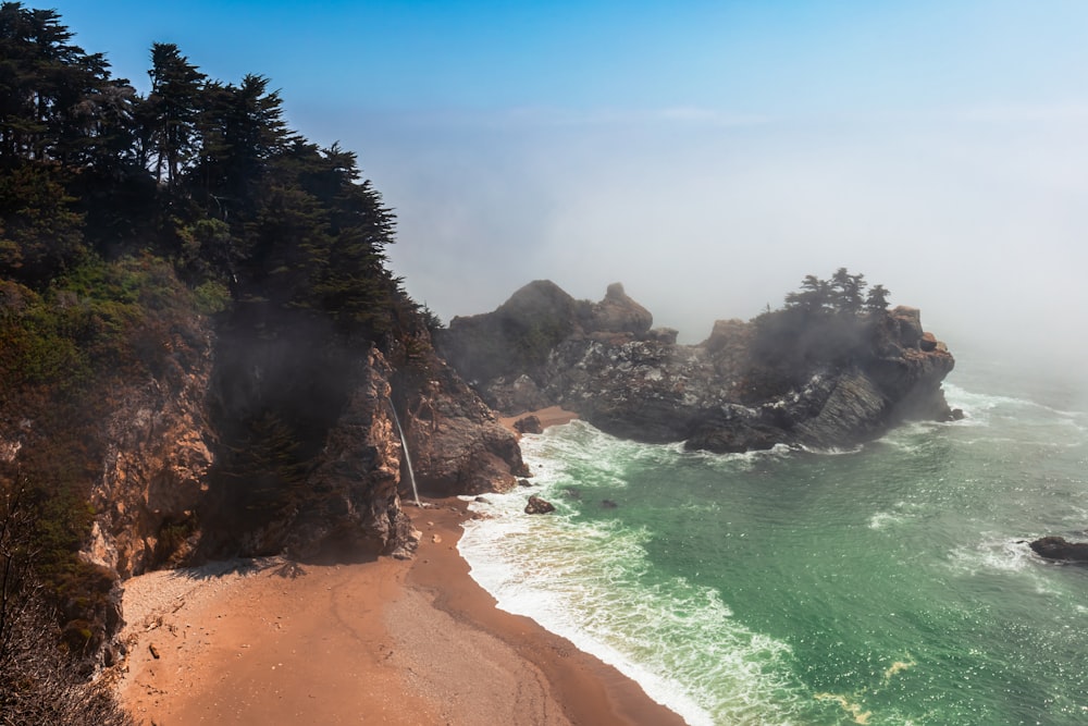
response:
[[[455,318],[440,339],[462,376],[506,415],[561,405],[616,435],[720,452],[843,446],[905,418],[953,415],[940,385],[954,360],[923,332],[917,310],[897,308],[866,323],[864,355],[783,368],[758,355],[757,322],[718,321],[703,343],[678,345],[676,331],[651,330],[644,308],[618,285],[596,305],[522,304],[561,299],[553,287],[531,283],[492,313]],[[603,309],[607,324],[586,313]],[[543,328],[565,333],[542,349],[532,331]],[[479,350],[527,362],[494,374]]]

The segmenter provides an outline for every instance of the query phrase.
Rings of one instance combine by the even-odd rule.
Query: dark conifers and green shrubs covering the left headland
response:
[[[433,324],[386,268],[395,218],[355,155],[290,131],[268,78],[215,81],[154,44],[141,96],[73,38],[54,11],[0,4],[3,718],[39,682],[12,669],[40,625],[22,603],[55,612],[69,653],[101,643],[113,575],[78,551],[126,385],[184,377],[210,317],[214,504],[268,520],[314,466],[348,362],[376,345],[407,365]],[[264,395],[238,393],[255,368]],[[163,522],[160,546],[200,516]]]

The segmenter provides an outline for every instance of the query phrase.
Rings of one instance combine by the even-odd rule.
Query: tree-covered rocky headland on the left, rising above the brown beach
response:
[[[388,270],[354,153],[290,131],[263,76],[154,44],[141,96],[72,40],[0,4],[4,723],[123,722],[51,689],[115,661],[129,576],[410,554],[395,413],[423,493],[526,473]]]

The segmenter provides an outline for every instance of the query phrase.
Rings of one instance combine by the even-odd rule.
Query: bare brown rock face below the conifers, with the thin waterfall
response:
[[[395,370],[374,347],[338,348],[313,369],[305,346],[292,345],[299,353],[290,357],[279,345],[224,345],[207,321],[194,324],[200,345],[162,376],[115,392],[103,430],[83,556],[121,578],[194,556],[410,554],[417,540],[401,499],[412,497],[411,484],[394,406],[420,492],[502,490],[524,475],[514,435],[433,353],[417,366],[425,376]],[[276,444],[275,427],[257,440],[238,423],[263,421],[263,407],[286,410],[274,401],[290,385],[280,379],[311,385],[322,371],[339,378],[331,384],[339,397],[310,391],[333,407],[324,428],[298,427],[297,436],[320,435],[312,455]],[[233,434],[244,446],[224,443],[232,429],[246,431]],[[254,455],[261,447],[268,456]],[[277,470],[287,455],[292,476]],[[224,463],[232,458],[244,460]]]

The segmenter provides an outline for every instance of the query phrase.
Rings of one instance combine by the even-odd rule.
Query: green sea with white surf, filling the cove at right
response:
[[[533,488],[473,504],[461,551],[499,606],[691,724],[1088,723],[1088,567],[1022,542],[1088,539],[1088,413],[945,390],[966,420],[848,452],[552,428],[522,441]],[[557,513],[522,514],[529,493]]]

